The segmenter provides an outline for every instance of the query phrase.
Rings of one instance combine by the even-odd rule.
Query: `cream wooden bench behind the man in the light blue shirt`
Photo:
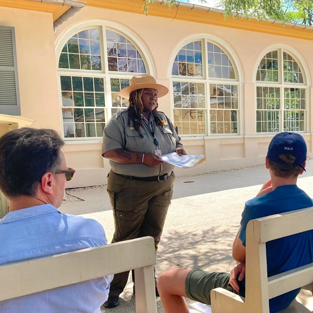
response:
[[[156,313],[152,237],[0,266],[0,301],[134,269],[136,313]]]

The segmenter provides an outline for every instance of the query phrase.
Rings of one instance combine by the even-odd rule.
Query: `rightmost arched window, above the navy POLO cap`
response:
[[[263,57],[256,73],[256,131],[304,132],[306,86],[301,65],[283,49]]]

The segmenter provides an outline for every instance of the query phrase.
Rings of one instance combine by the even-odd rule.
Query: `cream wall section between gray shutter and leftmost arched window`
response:
[[[22,117],[60,133],[52,15],[1,7],[0,24],[15,27]]]

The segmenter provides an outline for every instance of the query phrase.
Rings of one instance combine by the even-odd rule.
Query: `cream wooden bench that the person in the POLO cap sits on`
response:
[[[313,263],[267,277],[265,243],[313,229],[313,207],[252,220],[246,229],[246,298],[216,288],[212,313],[269,313],[268,299],[313,282]],[[312,296],[312,294],[311,294]],[[281,313],[311,312],[294,300]]]

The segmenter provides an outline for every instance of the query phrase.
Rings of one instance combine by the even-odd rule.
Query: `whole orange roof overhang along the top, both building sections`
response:
[[[71,13],[69,12],[71,5],[67,4],[70,2],[77,3],[78,6],[84,6],[86,2],[86,6],[141,15],[143,14],[142,6],[144,4],[143,0],[85,0],[85,2],[77,0],[0,0],[0,6],[48,12],[52,14],[53,22],[57,21],[60,17],[62,17],[61,22],[63,22],[62,20],[68,18],[67,15],[70,16],[75,13],[74,10]],[[225,18],[223,10],[184,2],[179,2],[169,10],[168,6],[163,2],[164,0],[154,0],[153,3],[149,4],[149,15],[147,16],[147,19],[149,16],[157,16],[173,20],[198,22],[298,39],[313,40],[312,26],[290,22],[284,23],[274,20],[259,21],[255,17],[251,17],[250,19],[242,16],[230,16]],[[59,24],[59,21],[56,23]]]

